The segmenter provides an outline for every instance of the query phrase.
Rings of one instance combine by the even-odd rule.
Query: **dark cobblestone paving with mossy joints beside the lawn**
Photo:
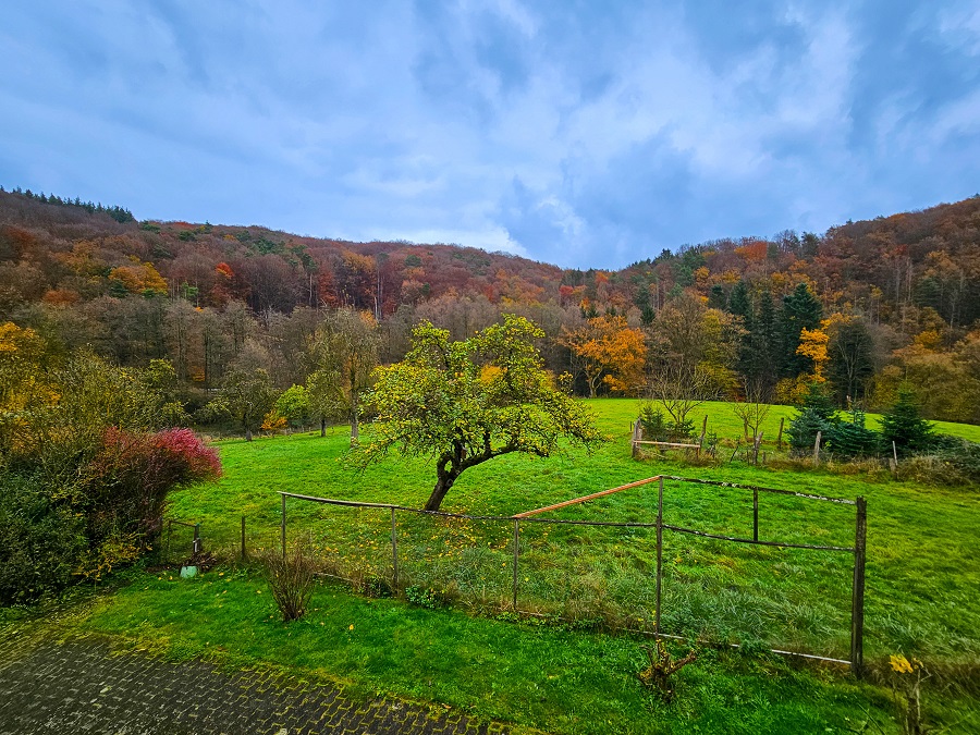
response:
[[[358,700],[270,672],[113,653],[102,638],[64,642],[0,630],[0,735],[210,735],[507,732],[457,711]]]

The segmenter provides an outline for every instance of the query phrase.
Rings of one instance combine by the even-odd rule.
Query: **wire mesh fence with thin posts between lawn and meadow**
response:
[[[609,519],[623,515],[622,505],[603,505],[609,495],[634,488],[630,519]],[[278,526],[271,515],[248,525],[243,516],[241,529],[208,528],[208,542],[236,559],[304,543],[322,573],[358,591],[427,607],[751,642],[861,665],[862,499],[660,476],[516,516],[280,494]],[[786,514],[797,522],[776,520]],[[192,531],[174,527],[171,554]]]

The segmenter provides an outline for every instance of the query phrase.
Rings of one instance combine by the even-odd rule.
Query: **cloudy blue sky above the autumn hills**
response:
[[[621,268],[980,191],[980,1],[4,0],[0,184]]]

